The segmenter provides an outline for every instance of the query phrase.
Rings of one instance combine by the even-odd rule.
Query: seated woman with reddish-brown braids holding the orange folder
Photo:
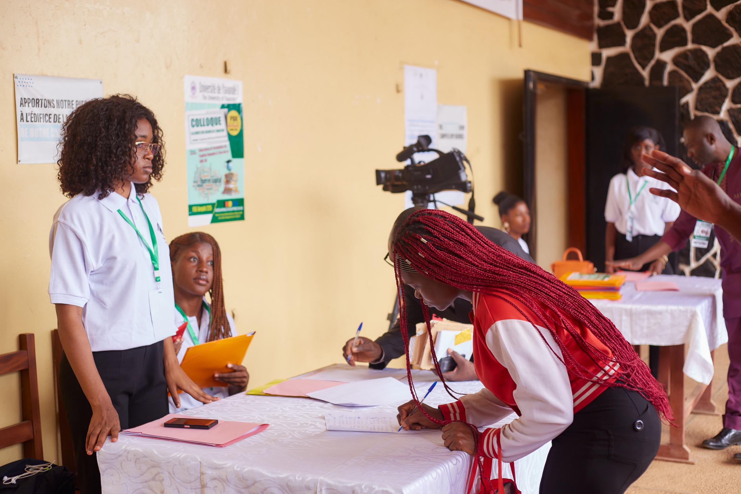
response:
[[[182,362],[189,346],[236,336],[236,329],[234,320],[224,309],[222,253],[216,240],[200,231],[181,235],[170,242],[170,263],[175,292],[175,326],[179,329],[185,326],[182,332],[178,331],[182,336],[173,337],[178,361]],[[210,304],[206,301],[207,292]],[[232,372],[213,375],[225,386],[204,389],[209,395],[227,398],[247,389],[250,379],[247,369],[235,363],[227,366]],[[170,413],[199,405],[199,401],[181,395],[180,408],[176,408],[170,398]]]

